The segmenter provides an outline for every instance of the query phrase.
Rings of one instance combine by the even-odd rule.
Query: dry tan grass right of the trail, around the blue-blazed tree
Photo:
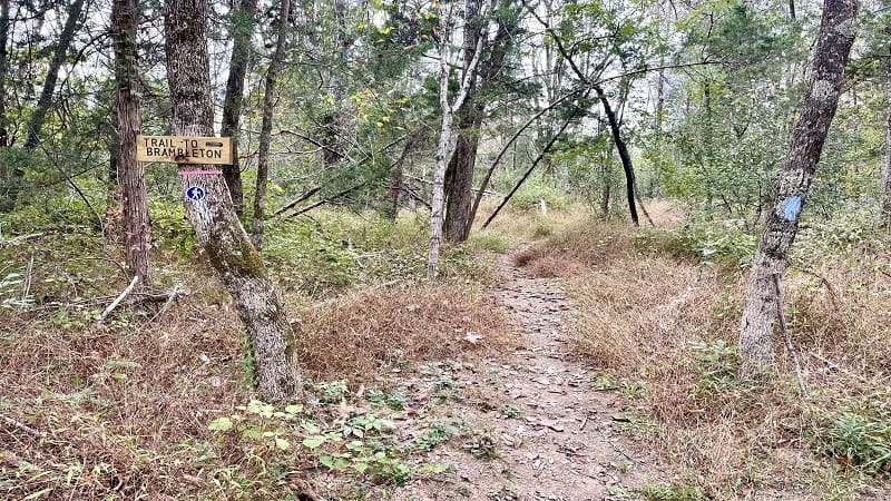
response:
[[[814,443],[831,424],[828,415],[864,399],[891,406],[891,257],[820,256],[806,272],[787,274],[787,321],[813,390],[802,402],[782,344],[777,377],[736,379],[745,274],[636,249],[636,232],[605,222],[570,225],[517,263],[566,279],[577,302],[571,341],[579,356],[610,381],[643,385],[630,399],[656,426],[644,439],[684,482],[714,499],[741,499],[765,485],[796,499],[824,499],[831,489],[839,491],[832,499],[859,499],[858,472],[840,470]]]

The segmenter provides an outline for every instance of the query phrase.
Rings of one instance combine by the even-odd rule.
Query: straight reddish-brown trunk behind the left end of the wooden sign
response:
[[[115,30],[115,78],[118,84],[118,170],[124,188],[127,271],[130,277],[138,276],[141,283],[147,283],[151,244],[146,171],[143,163],[136,161],[136,136],[141,129],[136,65],[136,30],[139,26],[137,2],[138,0],[115,0],[111,20]]]

